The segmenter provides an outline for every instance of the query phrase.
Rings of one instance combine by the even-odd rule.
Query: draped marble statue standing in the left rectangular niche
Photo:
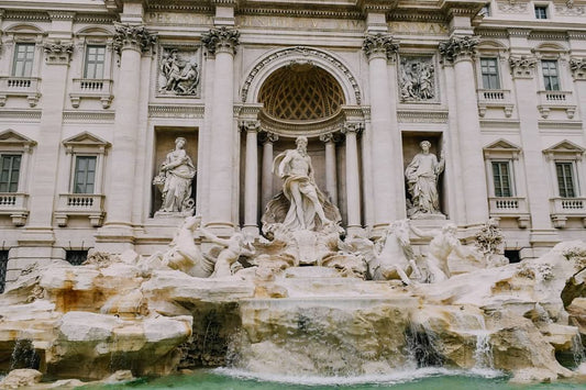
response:
[[[191,182],[196,168],[185,151],[186,140],[175,140],[175,149],[169,152],[161,166],[161,171],[153,183],[163,193],[163,204],[157,214],[194,214],[195,201],[191,198]]]

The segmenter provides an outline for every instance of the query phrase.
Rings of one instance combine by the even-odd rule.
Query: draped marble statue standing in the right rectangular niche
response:
[[[418,153],[405,170],[407,189],[411,197],[407,215],[410,219],[443,218],[440,211],[440,197],[438,193],[438,178],[445,166],[443,151],[438,157],[430,153],[431,143],[423,141],[419,144]]]

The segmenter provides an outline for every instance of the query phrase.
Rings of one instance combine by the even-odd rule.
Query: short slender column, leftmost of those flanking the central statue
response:
[[[258,145],[257,133],[261,122],[242,123],[246,132],[246,167],[244,170],[244,230],[252,236],[258,235]]]

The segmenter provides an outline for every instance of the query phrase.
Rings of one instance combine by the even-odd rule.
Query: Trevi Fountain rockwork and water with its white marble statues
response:
[[[466,243],[449,223],[416,226],[442,219],[444,157],[428,142],[405,172],[410,220],[377,239],[349,234],[316,185],[307,138],[296,145],[275,157],[281,191],[251,239],[219,237],[192,215],[195,168],[177,138],[154,179],[158,213],[185,218],[168,248],[25,269],[0,296],[0,388],[586,382],[584,242],[509,264],[495,221]],[[424,256],[416,238],[428,239]]]

